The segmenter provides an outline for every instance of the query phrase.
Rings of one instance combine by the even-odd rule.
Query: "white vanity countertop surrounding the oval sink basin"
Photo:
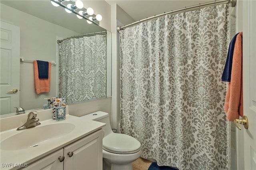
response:
[[[66,115],[66,120],[62,121],[56,121],[53,119],[47,119],[44,121],[39,121],[41,125],[38,125],[36,127],[32,128],[38,128],[43,125],[53,124],[53,123],[72,123],[75,125],[74,130],[72,130],[70,133],[66,135],[62,135],[61,137],[58,137],[58,139],[54,139],[52,141],[47,141],[46,143],[42,143],[38,145],[37,147],[30,147],[26,149],[21,150],[2,150],[0,149],[0,155],[1,155],[1,170],[4,169],[18,169],[18,168],[7,168],[3,167],[2,164],[4,163],[13,163],[13,164],[30,164],[31,162],[34,162],[38,160],[39,158],[42,158],[43,156],[46,156],[50,154],[51,152],[54,152],[58,149],[63,148],[66,145],[69,145],[70,143],[73,143],[74,141],[77,141],[78,139],[81,139],[82,137],[85,137],[95,131],[98,131],[102,127],[105,126],[105,123],[100,123],[97,121],[92,120],[85,120],[81,119],[80,117],[72,116],[72,115]],[[24,120],[25,123],[25,120]],[[17,131],[15,129],[10,129],[7,131],[3,131],[0,133],[1,142],[4,139],[7,139],[8,137],[11,137],[12,135],[16,135],[17,133],[22,133],[22,131],[26,131],[29,129],[24,129]],[[62,129],[58,129],[62,130]],[[50,131],[48,133],[51,133]],[[40,134],[34,134],[33,136],[24,136],[24,138],[36,138]],[[19,142],[19,139],[16,139],[16,142]]]

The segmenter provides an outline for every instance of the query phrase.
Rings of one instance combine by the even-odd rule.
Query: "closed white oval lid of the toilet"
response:
[[[140,142],[129,135],[111,133],[103,138],[103,149],[118,154],[131,154],[140,150]]]

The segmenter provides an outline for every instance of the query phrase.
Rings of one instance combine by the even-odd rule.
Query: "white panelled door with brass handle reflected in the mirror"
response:
[[[20,27],[0,25],[0,115],[13,113],[20,105]],[[9,92],[17,89],[17,92]]]

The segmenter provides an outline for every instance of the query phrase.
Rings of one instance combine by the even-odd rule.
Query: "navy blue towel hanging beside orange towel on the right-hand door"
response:
[[[230,79],[231,79],[232,61],[233,61],[234,47],[235,47],[237,35],[238,33],[232,38],[228,47],[228,56],[227,56],[226,64],[224,67],[224,71],[222,73],[222,78],[221,78],[223,82],[230,82]]]

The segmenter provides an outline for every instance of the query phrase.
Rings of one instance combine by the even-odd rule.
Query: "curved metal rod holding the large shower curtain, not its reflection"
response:
[[[178,13],[181,13],[181,12],[184,12],[184,11],[186,12],[186,11],[196,10],[200,7],[207,7],[207,6],[213,6],[213,5],[215,6],[215,5],[218,5],[218,4],[224,4],[226,2],[231,3],[232,7],[236,6],[236,0],[215,0],[215,1],[212,1],[212,2],[206,2],[204,4],[198,4],[198,5],[194,5],[194,6],[188,6],[188,7],[185,7],[185,8],[180,8],[178,10],[174,10],[174,11],[170,11],[170,12],[164,12],[163,14],[159,14],[159,15],[155,15],[155,16],[152,16],[152,17],[149,17],[149,18],[145,18],[143,20],[139,20],[139,21],[136,21],[134,23],[124,25],[122,27],[117,26],[116,29],[119,32],[120,30],[126,29],[127,27],[132,27],[132,26],[138,25],[142,22],[147,22],[147,21],[150,21],[150,20],[155,20],[155,19],[160,18],[162,16],[165,16],[167,14],[178,14]]]

